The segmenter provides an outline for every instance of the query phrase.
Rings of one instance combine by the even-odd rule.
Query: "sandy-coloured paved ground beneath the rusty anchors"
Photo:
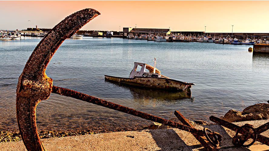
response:
[[[269,122],[269,120],[256,120],[237,122],[237,125],[249,123],[258,127]],[[237,148],[232,144],[232,137],[235,132],[220,125],[196,126],[198,129],[208,127],[222,135],[220,151],[269,151],[269,146],[255,142],[249,148]],[[261,133],[269,137],[269,130]],[[82,135],[74,137],[48,138],[42,139],[47,151],[71,150],[71,151],[203,151],[203,146],[195,139],[191,133],[171,129],[141,130],[114,133],[100,133],[93,135]],[[0,143],[0,151],[26,151],[22,141]]]

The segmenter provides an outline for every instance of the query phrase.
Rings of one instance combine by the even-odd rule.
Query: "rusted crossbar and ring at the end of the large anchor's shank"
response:
[[[179,111],[175,111],[174,112],[175,116],[178,117],[178,119],[185,125],[194,128],[194,126],[191,124],[191,122],[186,119]],[[217,132],[214,132],[217,133]],[[211,136],[214,135],[214,133],[211,132]],[[218,133],[219,134],[219,133]],[[219,145],[219,143],[217,143],[218,145],[214,145],[213,142],[209,142],[208,140],[210,140],[210,138],[205,138],[203,135],[198,135],[197,133],[192,133],[192,135],[204,146],[205,149],[207,149],[208,151],[217,151],[218,149],[216,149],[215,147],[217,147]],[[215,136],[215,135],[214,135]],[[221,135],[218,135],[218,141],[221,141]]]

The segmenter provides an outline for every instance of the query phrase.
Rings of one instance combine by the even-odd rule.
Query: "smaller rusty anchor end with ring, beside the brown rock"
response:
[[[211,116],[209,119],[221,126],[227,127],[231,130],[234,130],[236,132],[235,136],[233,137],[232,143],[235,146],[243,146],[243,147],[249,147],[255,143],[255,141],[258,141],[260,143],[266,144],[269,146],[269,138],[261,135],[260,133],[265,132],[269,129],[269,122],[254,128],[251,124],[245,124],[243,126],[238,126],[233,123],[227,122],[226,120],[222,120],[218,117]],[[239,135],[241,134],[241,135]],[[252,139],[251,143],[244,144],[247,142],[247,140]]]

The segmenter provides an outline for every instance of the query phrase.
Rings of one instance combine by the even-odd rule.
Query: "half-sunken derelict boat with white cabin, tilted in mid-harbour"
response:
[[[192,85],[195,85],[194,83],[181,82],[161,75],[161,71],[155,68],[155,64],[156,59],[154,61],[154,66],[135,62],[135,66],[128,78],[105,75],[105,80],[152,89],[191,93],[190,88]],[[141,67],[141,69],[139,70],[138,67]]]

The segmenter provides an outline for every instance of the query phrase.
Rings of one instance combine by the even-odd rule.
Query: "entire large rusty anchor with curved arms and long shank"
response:
[[[52,79],[45,74],[46,67],[51,57],[66,38],[71,37],[83,25],[99,14],[100,13],[94,9],[84,9],[66,17],[48,32],[29,57],[18,79],[16,91],[18,127],[26,149],[28,151],[45,151],[40,137],[38,136],[35,109],[38,102],[48,99],[52,92],[191,132],[207,150],[217,150],[215,146],[218,146],[218,142],[221,141],[221,135],[216,132],[211,132],[210,130],[197,130],[192,125],[188,124],[189,121],[187,119],[182,120],[185,124],[187,123],[183,125],[74,90],[52,85]],[[178,118],[185,119],[179,111],[175,111],[175,114]],[[203,136],[206,136],[207,139]]]

